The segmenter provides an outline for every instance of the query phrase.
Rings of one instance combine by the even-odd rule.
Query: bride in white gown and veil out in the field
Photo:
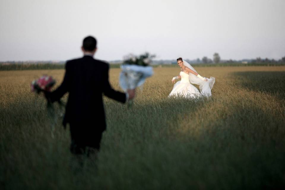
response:
[[[184,96],[185,98],[195,98],[201,95],[209,97],[212,95],[211,89],[215,83],[215,78],[202,77],[197,71],[186,61],[180,57],[177,59],[177,64],[181,67],[179,76],[172,78],[172,83],[175,83],[175,79],[181,78],[176,84],[174,84],[169,96]],[[200,91],[192,84],[199,85]]]

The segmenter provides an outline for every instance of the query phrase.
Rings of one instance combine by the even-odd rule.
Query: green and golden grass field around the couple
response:
[[[216,83],[197,101],[167,98],[179,71],[154,68],[131,109],[106,98],[101,151],[83,167],[62,118],[30,92],[64,70],[0,71],[0,189],[284,189],[285,66],[198,67]]]

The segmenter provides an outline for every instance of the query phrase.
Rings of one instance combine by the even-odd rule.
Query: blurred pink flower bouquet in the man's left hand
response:
[[[41,91],[50,91],[56,80],[52,76],[43,75],[37,80],[31,82],[31,91],[40,93]]]

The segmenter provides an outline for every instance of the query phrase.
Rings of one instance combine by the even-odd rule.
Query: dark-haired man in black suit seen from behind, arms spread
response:
[[[55,91],[45,92],[45,96],[55,102],[69,92],[63,125],[70,126],[70,151],[89,154],[89,150],[99,150],[106,129],[102,94],[125,103],[134,98],[135,90],[121,93],[110,86],[109,65],[93,58],[97,50],[94,37],[85,37],[81,49],[84,56],[66,62],[63,82]]]

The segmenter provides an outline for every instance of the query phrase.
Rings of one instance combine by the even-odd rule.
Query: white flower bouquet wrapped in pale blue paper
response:
[[[153,57],[155,56],[145,53],[140,56],[130,54],[124,58],[119,79],[121,88],[124,91],[127,91],[127,89],[135,89],[143,85],[145,79],[153,75],[153,69],[149,66]],[[132,103],[132,100],[129,101],[129,106],[131,106]]]

